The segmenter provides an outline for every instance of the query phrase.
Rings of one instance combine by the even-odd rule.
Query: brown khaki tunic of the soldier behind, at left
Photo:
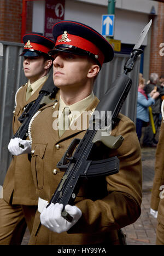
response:
[[[21,126],[17,120],[24,111],[24,107],[37,99],[43,84],[26,101],[27,85],[22,86],[16,94],[16,109],[13,117],[13,133]],[[36,205],[38,197],[31,175],[31,164],[28,155],[13,156],[3,183],[3,198],[11,204],[22,204],[26,206]]]

